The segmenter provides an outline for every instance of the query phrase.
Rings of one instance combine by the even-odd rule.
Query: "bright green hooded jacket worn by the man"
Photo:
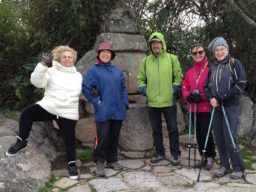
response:
[[[151,50],[150,41],[154,37],[159,38],[163,44],[163,49],[160,51],[158,57]],[[148,44],[151,55],[142,59],[140,72],[137,76],[138,87],[140,90],[142,87],[146,88],[148,106],[157,108],[175,106],[175,95],[183,82],[183,72],[180,68],[180,62],[177,56],[166,52],[165,39],[162,33],[152,33]]]

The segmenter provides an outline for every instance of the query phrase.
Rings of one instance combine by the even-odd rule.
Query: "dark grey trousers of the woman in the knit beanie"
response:
[[[212,110],[212,108],[211,108]],[[228,127],[226,126],[226,120],[223,115],[222,109],[215,109],[214,117],[212,120],[212,126],[214,131],[214,137],[217,144],[217,148],[220,154],[220,165],[225,165],[229,167],[229,157],[230,162],[234,171],[241,171],[245,169],[242,154],[240,152],[240,147],[237,144],[237,126],[238,126],[238,117],[240,114],[240,105],[225,107],[226,116],[229,120],[229,126],[232,131],[232,137],[234,138],[234,144],[236,145],[237,152],[234,150],[232,145],[232,140],[229,134]],[[237,154],[236,154],[237,153]],[[238,162],[237,160],[240,162]]]

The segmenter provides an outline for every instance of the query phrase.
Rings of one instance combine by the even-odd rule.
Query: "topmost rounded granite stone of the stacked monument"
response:
[[[140,19],[134,10],[117,8],[108,13],[100,32],[140,33]]]

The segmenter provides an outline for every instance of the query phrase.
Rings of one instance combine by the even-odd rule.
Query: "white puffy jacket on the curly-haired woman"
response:
[[[45,97],[37,104],[57,117],[78,120],[78,100],[82,89],[82,75],[75,66],[65,67],[57,61],[53,66],[39,63],[31,74],[31,83],[45,89]]]

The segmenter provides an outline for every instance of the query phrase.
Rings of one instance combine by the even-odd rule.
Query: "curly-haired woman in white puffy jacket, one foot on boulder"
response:
[[[35,121],[56,120],[65,143],[70,179],[77,179],[75,128],[79,118],[78,101],[82,89],[82,75],[76,71],[77,52],[68,46],[53,49],[52,55],[43,54],[30,81],[45,89],[45,95],[36,104],[27,106],[19,120],[17,142],[6,155],[13,157],[26,148],[27,140]]]

